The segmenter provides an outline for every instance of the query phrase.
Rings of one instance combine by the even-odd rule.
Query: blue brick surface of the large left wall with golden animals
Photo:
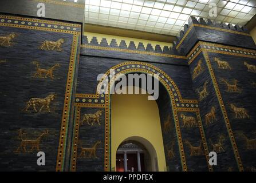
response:
[[[0,19],[4,19],[1,22],[7,22],[6,18]],[[36,30],[22,27],[29,22],[33,26],[36,26],[35,23],[41,25],[41,21],[34,22],[33,19],[24,23],[19,20],[14,21],[15,17],[9,22],[13,27],[5,24],[0,26],[0,36],[10,33],[18,35],[11,40],[11,46],[5,46],[2,43],[0,46],[0,59],[6,61],[0,63],[2,86],[0,89],[0,124],[2,126],[0,138],[3,142],[0,144],[0,169],[4,171],[55,171],[73,34],[44,28]],[[14,27],[17,25],[21,28]],[[49,27],[48,25],[45,26]],[[39,49],[42,42],[57,41],[61,38],[64,39],[61,45],[62,51]],[[78,45],[79,42],[74,46],[76,51]],[[42,69],[49,69],[59,64],[53,70],[54,78],[50,78],[50,75],[45,77],[45,74],[42,77],[35,76],[37,66],[33,63],[34,61],[37,61]],[[38,112],[34,111],[33,106],[26,111],[25,108],[31,98],[45,98],[49,94],[54,94],[54,100],[50,101],[49,105],[50,112],[46,107],[39,112],[42,105],[38,103],[36,104]],[[39,150],[45,152],[46,165],[38,166],[38,149],[34,146],[33,152],[29,152],[32,146],[26,145],[27,152],[25,152],[23,146],[20,145],[22,140],[36,140],[46,130],[48,133],[41,138],[39,143]]]

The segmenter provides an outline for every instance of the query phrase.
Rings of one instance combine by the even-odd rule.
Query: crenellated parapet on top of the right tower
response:
[[[246,27],[233,26],[231,23],[226,25],[226,23],[210,19],[204,21],[203,18],[190,17],[188,25],[184,25],[184,30],[180,31],[180,36],[177,39],[174,47],[179,52],[184,51],[184,54],[187,54],[198,41],[256,49],[253,38]]]

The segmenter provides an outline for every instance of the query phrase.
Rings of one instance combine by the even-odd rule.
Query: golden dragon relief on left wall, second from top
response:
[[[39,62],[34,61],[32,62],[37,65],[37,71],[34,73],[34,77],[38,78],[50,78],[54,79],[53,71],[56,69],[56,67],[60,67],[60,63],[56,63],[54,66],[50,67],[49,69],[42,69],[39,65]]]

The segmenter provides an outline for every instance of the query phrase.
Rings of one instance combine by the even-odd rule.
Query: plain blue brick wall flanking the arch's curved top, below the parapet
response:
[[[104,74],[111,69],[112,66],[124,61],[129,60],[81,55],[77,79],[77,93],[96,93],[98,83],[97,75]],[[170,77],[178,85],[183,98],[195,98],[194,90],[192,90],[190,72],[187,66],[160,63],[151,64],[170,75]]]

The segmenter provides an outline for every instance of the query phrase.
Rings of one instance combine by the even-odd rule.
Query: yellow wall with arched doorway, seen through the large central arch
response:
[[[155,148],[159,171],[166,171],[159,110],[147,94],[113,94],[111,96],[111,165],[116,166],[116,151],[121,142],[133,136],[149,141]],[[143,144],[145,145],[145,144]],[[147,145],[145,145],[147,148]],[[147,149],[150,151],[150,149]],[[152,154],[149,152],[149,154]],[[153,160],[152,160],[153,162]]]

